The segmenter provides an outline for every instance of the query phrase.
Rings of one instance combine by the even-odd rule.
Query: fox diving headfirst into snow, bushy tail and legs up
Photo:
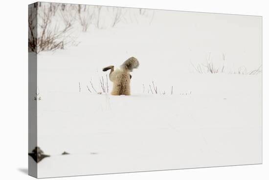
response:
[[[116,70],[114,70],[114,66],[103,68],[103,71],[111,69],[109,79],[113,83],[112,95],[131,95],[130,80],[132,76],[130,72],[137,67],[139,67],[139,62],[136,58],[131,57]]]

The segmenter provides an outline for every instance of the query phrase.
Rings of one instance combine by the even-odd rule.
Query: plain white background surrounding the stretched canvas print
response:
[[[27,172],[27,4],[34,1],[3,1],[0,5],[1,19],[1,56],[0,56],[0,176],[1,179],[32,179]],[[263,92],[267,89],[265,80],[268,69],[265,62],[267,56],[267,34],[269,12],[265,0],[188,0],[162,2],[150,0],[57,0],[55,2],[82,3],[96,5],[112,5],[125,7],[142,7],[154,9],[171,9],[183,11],[216,12],[229,14],[246,14],[263,16]],[[263,101],[263,164],[249,166],[232,166],[218,168],[186,169],[159,172],[127,173],[114,175],[98,175],[72,177],[65,179],[93,180],[133,180],[133,179],[268,179],[266,147],[266,98]]]

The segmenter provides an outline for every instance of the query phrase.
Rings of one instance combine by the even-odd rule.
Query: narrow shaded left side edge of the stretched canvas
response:
[[[28,5],[28,174],[37,178],[37,3]],[[34,158],[33,158],[34,157]]]

